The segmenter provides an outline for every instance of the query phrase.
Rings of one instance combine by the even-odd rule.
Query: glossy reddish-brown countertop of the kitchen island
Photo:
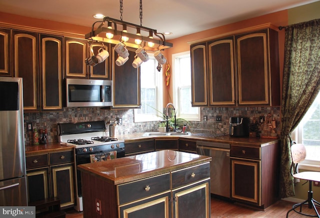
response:
[[[175,150],[159,150],[112,160],[80,164],[77,165],[77,169],[116,185],[210,160],[211,157],[209,156]]]

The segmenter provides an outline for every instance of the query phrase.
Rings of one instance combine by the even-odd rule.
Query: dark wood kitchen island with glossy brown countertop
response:
[[[210,217],[210,160],[160,150],[78,165],[83,217]]]

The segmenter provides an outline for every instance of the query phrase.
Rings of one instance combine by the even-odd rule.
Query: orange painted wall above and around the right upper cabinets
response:
[[[189,50],[190,45],[187,43],[189,41],[194,41],[198,39],[208,38],[215,35],[220,35],[223,33],[231,32],[241,28],[247,28],[250,26],[260,25],[264,23],[272,23],[275,26],[285,26],[288,24],[288,13],[287,10],[282,10],[274,13],[269,13],[263,16],[254,17],[251,19],[242,20],[239,22],[207,29],[204,31],[196,32],[193,34],[181,36],[172,40],[168,40],[169,42],[173,43],[173,47],[168,48],[164,51],[164,55],[168,59],[168,63],[171,65],[172,59],[171,56],[174,53],[187,51]],[[284,55],[284,29],[278,31],[279,37],[279,67],[280,67],[280,84],[282,84],[282,72],[283,72],[283,55]],[[165,67],[164,67],[165,68]],[[172,73],[172,71],[171,71]],[[164,74],[164,73],[163,73]],[[165,75],[164,75],[165,78]],[[172,96],[172,79],[170,79],[169,83],[169,94]],[[167,87],[163,85],[163,89],[165,90]],[[167,93],[166,91],[164,93]],[[281,93],[281,92],[280,92]],[[279,93],[279,94],[280,94]],[[168,95],[164,96],[163,104],[165,105],[169,102]]]

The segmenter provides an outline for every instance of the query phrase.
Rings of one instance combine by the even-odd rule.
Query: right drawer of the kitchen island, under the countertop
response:
[[[171,188],[210,177],[209,162],[171,172]]]

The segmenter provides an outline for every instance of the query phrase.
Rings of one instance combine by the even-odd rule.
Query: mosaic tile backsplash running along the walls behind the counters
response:
[[[57,123],[105,120],[115,117],[122,118],[118,125],[118,134],[131,134],[145,131],[157,131],[158,121],[134,122],[133,109],[102,109],[100,107],[65,107],[63,111],[24,113],[25,143],[30,144],[31,132],[26,129],[26,123],[32,123],[32,128],[48,131],[48,142],[56,142]],[[221,115],[221,121],[215,121],[215,116]],[[206,120],[204,121],[204,116]],[[201,121],[190,121],[187,131],[203,133],[210,136],[226,135],[229,131],[230,116],[247,116],[250,122],[273,118],[276,121],[276,132],[279,134],[280,107],[201,107]],[[160,118],[159,118],[160,119]],[[180,126],[182,129],[182,126]]]

